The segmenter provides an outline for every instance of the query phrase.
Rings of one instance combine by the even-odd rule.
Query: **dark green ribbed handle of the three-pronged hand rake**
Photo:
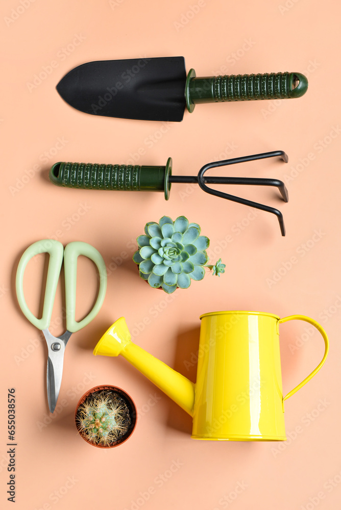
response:
[[[169,198],[172,158],[166,166],[99,165],[97,163],[55,163],[50,170],[50,181],[67,188],[163,191]]]

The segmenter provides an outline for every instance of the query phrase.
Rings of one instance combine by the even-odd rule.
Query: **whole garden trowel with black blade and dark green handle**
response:
[[[65,101],[92,115],[180,122],[199,103],[301,97],[306,77],[298,72],[186,76],[183,57],[88,62],[57,85]]]

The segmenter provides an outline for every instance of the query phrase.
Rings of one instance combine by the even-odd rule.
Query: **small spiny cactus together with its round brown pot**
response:
[[[92,388],[79,401],[75,421],[81,437],[93,446],[112,448],[126,441],[136,424],[129,395],[114,386]]]

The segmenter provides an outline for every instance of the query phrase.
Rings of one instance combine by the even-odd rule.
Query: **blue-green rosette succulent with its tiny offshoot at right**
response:
[[[189,223],[185,216],[175,221],[163,216],[159,223],[147,223],[144,232],[137,238],[138,250],[133,261],[139,266],[141,278],[151,287],[162,287],[171,294],[177,288],[187,289],[191,279],[204,278],[209,239],[200,235],[198,223]]]

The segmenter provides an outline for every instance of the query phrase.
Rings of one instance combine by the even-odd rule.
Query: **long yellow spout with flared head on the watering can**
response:
[[[131,341],[124,317],[116,320],[93,350],[94,355],[123,356],[161,391],[193,416],[195,385]]]

